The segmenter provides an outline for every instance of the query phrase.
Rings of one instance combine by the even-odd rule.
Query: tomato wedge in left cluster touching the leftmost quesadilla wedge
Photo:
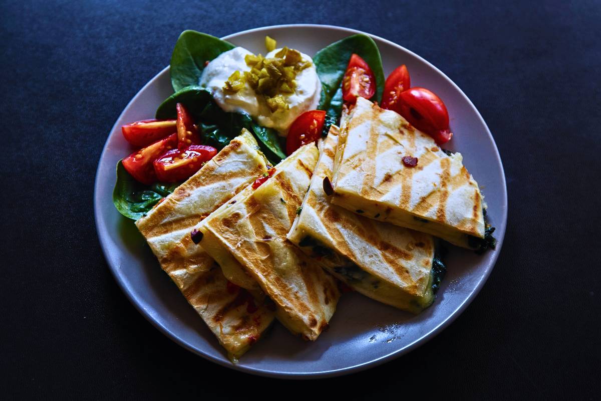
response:
[[[173,149],[154,161],[154,172],[160,182],[178,182],[191,177],[217,154],[207,145],[189,145],[184,150]]]

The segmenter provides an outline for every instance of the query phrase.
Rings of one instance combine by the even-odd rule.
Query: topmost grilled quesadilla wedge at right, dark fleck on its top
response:
[[[404,156],[418,164],[408,167]],[[484,238],[482,195],[460,153],[447,155],[403,117],[361,97],[343,118],[332,186],[332,203],[369,218],[470,249]]]

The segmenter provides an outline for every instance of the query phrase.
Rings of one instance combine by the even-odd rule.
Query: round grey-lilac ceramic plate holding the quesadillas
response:
[[[210,33],[210,32],[207,32]],[[309,55],[351,34],[352,29],[323,25],[281,25],[252,29],[224,39],[252,52],[264,52],[264,37]],[[441,71],[398,44],[371,35],[382,54],[386,75],[406,64],[414,86],[427,87],[444,99],[456,135],[450,150],[463,154],[464,164],[483,189],[488,215],[496,227],[498,245],[478,256],[451,247],[445,258],[447,275],[434,304],[412,316],[358,293],[345,293],[329,330],[314,342],[291,335],[279,323],[232,364],[215,336],[160,269],[133,222],[112,204],[115,165],[127,155],[120,127],[154,117],[157,106],[173,91],[168,67],[151,79],[124,109],[100,156],[96,174],[94,212],[102,249],[115,279],[138,310],[178,344],[208,360],[265,376],[312,378],[343,375],[400,357],[432,338],[474,299],[501,251],[507,221],[505,176],[495,141],[468,97]]]

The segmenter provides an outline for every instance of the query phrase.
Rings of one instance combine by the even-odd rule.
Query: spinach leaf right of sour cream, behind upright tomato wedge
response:
[[[376,43],[367,35],[356,34],[339,40],[324,47],[313,57],[320,81],[322,81],[322,96],[319,100],[320,110],[336,121],[342,112],[342,79],[350,56],[356,53],[370,65],[376,76],[376,94],[370,100],[380,101],[384,90],[384,72],[382,58]]]

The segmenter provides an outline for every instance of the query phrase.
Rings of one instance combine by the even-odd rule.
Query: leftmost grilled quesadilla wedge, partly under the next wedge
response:
[[[243,131],[136,221],[163,270],[234,358],[258,340],[273,321],[273,311],[228,284],[215,261],[192,241],[191,229],[267,171],[257,148],[252,135]]]

